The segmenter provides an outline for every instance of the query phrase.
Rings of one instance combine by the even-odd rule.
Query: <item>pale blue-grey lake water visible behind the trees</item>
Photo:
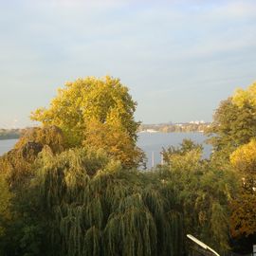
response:
[[[147,167],[151,168],[161,162],[160,152],[162,148],[177,146],[184,138],[191,138],[204,146],[204,157],[210,156],[211,147],[204,143],[206,137],[202,133],[138,133],[137,146],[140,147],[148,157]],[[0,140],[0,155],[8,152],[16,143],[17,139]],[[154,158],[154,161],[153,161]]]

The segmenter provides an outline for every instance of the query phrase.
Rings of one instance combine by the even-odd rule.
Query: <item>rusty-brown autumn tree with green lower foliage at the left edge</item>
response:
[[[40,245],[44,241],[45,223],[37,219],[44,210],[37,211],[38,193],[28,188],[36,175],[34,166],[42,150],[58,155],[64,147],[59,128],[35,127],[27,129],[14,148],[0,157],[1,255],[40,255],[44,251]]]

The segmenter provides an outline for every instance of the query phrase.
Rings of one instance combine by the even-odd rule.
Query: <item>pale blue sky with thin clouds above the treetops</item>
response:
[[[256,81],[256,1],[0,0],[0,128],[58,87],[117,77],[143,123],[210,121]]]

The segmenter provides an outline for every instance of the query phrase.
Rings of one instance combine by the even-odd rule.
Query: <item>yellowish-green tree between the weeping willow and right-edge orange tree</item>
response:
[[[183,231],[224,253],[229,249],[229,204],[237,177],[216,161],[202,160],[201,151],[192,141],[170,148],[167,165],[159,167],[160,178],[182,210]]]

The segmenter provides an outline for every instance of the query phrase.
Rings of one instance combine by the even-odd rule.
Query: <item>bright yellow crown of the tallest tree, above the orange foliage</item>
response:
[[[97,119],[101,123],[121,124],[132,140],[137,139],[138,122],[134,120],[137,103],[128,88],[119,79],[87,77],[67,82],[58,90],[48,109],[39,108],[31,119],[44,124],[57,125],[64,131],[71,145],[81,145],[87,122]]]

